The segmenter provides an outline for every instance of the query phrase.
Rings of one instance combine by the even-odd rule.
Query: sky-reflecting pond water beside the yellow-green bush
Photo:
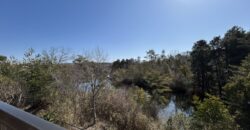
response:
[[[168,120],[170,117],[180,113],[186,116],[192,115],[193,107],[190,97],[171,94],[169,102],[159,111],[158,117],[162,120]]]

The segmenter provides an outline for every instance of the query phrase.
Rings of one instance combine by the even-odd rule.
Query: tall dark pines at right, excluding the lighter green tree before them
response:
[[[192,70],[202,98],[205,92],[223,97],[223,86],[249,52],[250,33],[240,27],[233,27],[223,38],[214,37],[209,43],[197,41],[191,52]]]

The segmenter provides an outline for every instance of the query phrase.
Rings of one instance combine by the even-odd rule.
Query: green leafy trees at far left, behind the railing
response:
[[[46,108],[54,92],[52,72],[57,61],[62,59],[63,55],[59,58],[53,49],[50,53],[44,51],[36,55],[33,49],[29,49],[22,61],[12,57],[2,61],[0,75],[7,83],[5,93],[14,94],[9,98],[14,100],[13,105],[33,113]]]

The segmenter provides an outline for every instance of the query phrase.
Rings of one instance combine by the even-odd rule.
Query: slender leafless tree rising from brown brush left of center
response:
[[[84,82],[88,86],[88,91],[91,95],[91,108],[93,122],[89,126],[96,124],[97,112],[96,101],[100,91],[107,85],[107,77],[109,70],[106,66],[107,55],[99,48],[79,55],[74,63],[83,70]]]

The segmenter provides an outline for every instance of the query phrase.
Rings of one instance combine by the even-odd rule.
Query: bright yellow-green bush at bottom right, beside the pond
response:
[[[193,114],[193,129],[227,129],[235,130],[233,117],[227,107],[215,96],[207,95],[203,102],[195,98],[196,111]]]

